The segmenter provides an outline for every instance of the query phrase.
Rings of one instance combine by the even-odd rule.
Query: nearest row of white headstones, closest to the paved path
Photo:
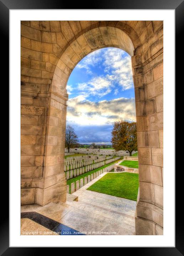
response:
[[[91,175],[86,176],[84,179],[80,179],[80,181],[76,181],[76,186],[75,186],[75,182],[71,183],[71,194],[73,194],[75,191],[77,191],[78,189],[82,188],[84,185],[86,185],[87,183],[89,183],[90,181],[92,181],[93,179],[95,179],[96,177],[98,177],[100,174],[104,173],[104,172],[110,172],[111,170],[114,169],[114,165],[115,164],[111,164],[110,166],[101,169],[97,172],[92,173]],[[75,188],[76,187],[76,188]],[[70,185],[66,186],[66,192],[69,193],[69,189],[70,189]]]

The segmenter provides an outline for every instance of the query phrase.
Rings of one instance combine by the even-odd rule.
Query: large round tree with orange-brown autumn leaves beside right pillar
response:
[[[127,150],[129,156],[133,151],[137,151],[137,128],[136,122],[125,121],[114,122],[112,134],[112,147],[116,150]]]

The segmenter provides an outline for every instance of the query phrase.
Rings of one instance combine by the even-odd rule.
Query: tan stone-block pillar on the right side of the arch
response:
[[[152,24],[148,40],[132,57],[139,157],[136,235],[163,234],[163,25]]]

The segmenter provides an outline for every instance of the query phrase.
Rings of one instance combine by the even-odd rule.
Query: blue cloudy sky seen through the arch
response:
[[[113,122],[136,120],[131,57],[103,48],[83,58],[67,83],[67,124],[80,143],[111,144]]]

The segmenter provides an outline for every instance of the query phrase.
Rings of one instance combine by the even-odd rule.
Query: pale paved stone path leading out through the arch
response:
[[[86,190],[105,174],[73,193],[78,201],[68,196],[65,203],[22,206],[21,211],[34,210],[86,235],[135,235],[136,201]]]

